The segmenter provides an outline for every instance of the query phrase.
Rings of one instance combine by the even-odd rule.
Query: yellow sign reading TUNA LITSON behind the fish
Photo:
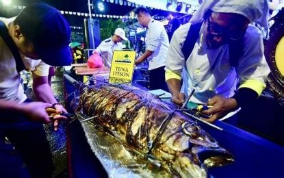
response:
[[[135,62],[135,51],[114,50],[112,66],[109,73],[109,83],[131,83]]]

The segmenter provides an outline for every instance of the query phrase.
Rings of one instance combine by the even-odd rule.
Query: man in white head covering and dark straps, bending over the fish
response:
[[[270,69],[261,32],[249,23],[266,26],[267,7],[267,0],[203,1],[170,42],[166,81],[172,101],[181,105],[195,90],[190,101],[211,105],[203,114],[214,122],[257,99]]]

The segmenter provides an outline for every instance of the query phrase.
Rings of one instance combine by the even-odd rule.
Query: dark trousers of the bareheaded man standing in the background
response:
[[[168,91],[165,79],[165,66],[149,70],[150,89],[162,89]]]

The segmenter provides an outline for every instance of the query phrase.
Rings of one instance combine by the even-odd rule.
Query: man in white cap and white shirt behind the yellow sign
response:
[[[117,28],[114,31],[114,35],[106,40],[103,40],[99,47],[97,47],[92,53],[99,53],[103,58],[103,64],[110,68],[112,65],[112,54],[114,50],[122,50],[122,40],[128,40],[125,37],[125,31],[122,28]]]

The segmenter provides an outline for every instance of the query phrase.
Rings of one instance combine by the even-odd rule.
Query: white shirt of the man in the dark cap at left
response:
[[[14,21],[14,18],[0,18],[0,21],[8,26],[10,22]],[[32,71],[39,76],[49,75],[49,65],[41,60],[31,60],[22,53],[20,54],[27,71]],[[21,75],[16,71],[14,56],[0,36],[0,99],[23,103],[27,96],[20,79]]]

